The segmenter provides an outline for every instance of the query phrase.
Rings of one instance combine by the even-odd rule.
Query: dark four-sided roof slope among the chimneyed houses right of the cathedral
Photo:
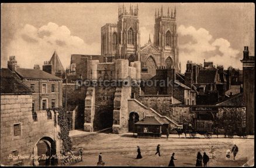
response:
[[[215,83],[217,70],[199,70],[198,83]]]

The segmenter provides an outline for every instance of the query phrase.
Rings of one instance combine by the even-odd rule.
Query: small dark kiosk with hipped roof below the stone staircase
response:
[[[137,137],[160,138],[162,134],[162,125],[164,123],[154,116],[146,116],[144,119],[137,121]]]

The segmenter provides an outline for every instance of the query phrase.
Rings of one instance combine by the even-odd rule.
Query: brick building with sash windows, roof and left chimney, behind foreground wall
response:
[[[15,56],[10,56],[8,69],[32,91],[32,111],[63,106],[62,79],[40,69],[25,69],[17,66]]]

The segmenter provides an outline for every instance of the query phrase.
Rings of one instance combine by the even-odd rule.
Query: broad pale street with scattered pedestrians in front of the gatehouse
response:
[[[96,166],[99,152],[102,153],[105,166],[168,166],[171,153],[175,152],[175,166],[195,166],[196,154],[206,152],[210,158],[210,166],[243,166],[254,156],[254,137],[243,139],[216,138],[205,139],[200,135],[198,138],[178,138],[171,135],[167,140],[152,138],[133,138],[133,134],[121,135],[105,133],[83,133],[71,135],[72,143],[76,148],[83,148],[83,162],[75,166]],[[161,156],[154,155],[157,144],[160,144]],[[226,160],[226,151],[236,144],[239,152],[236,160],[231,155]],[[243,144],[243,145],[241,145]],[[142,159],[137,156],[137,145],[140,146]],[[250,163],[254,164],[253,159]]]

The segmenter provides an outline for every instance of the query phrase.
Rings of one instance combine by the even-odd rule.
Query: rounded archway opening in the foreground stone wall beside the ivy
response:
[[[50,137],[40,138],[33,147],[33,155],[40,156],[40,159],[33,159],[33,166],[56,166],[56,141]],[[44,157],[43,155],[49,156]],[[56,157],[55,157],[56,156]]]

